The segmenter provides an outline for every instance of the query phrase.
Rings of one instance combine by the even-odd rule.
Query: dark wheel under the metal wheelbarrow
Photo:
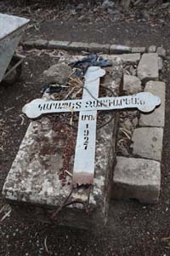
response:
[[[16,65],[18,61],[20,61],[19,57],[14,55],[14,57],[12,58],[12,60],[10,61],[9,65],[8,65],[6,73],[8,73],[8,71],[12,67],[14,67],[14,65]],[[9,73],[5,77],[5,79],[3,79],[2,83],[5,85],[15,84],[16,82],[19,81],[21,72],[22,72],[22,63],[20,63],[19,66],[15,67],[14,70],[11,73]]]

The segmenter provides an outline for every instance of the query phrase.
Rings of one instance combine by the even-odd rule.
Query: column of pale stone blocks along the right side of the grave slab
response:
[[[150,92],[160,96],[161,106],[153,113],[134,113],[133,119],[132,116],[128,118],[127,114],[127,118],[122,119],[119,140],[121,142],[124,132],[125,142],[118,141],[119,149],[122,147],[119,155],[122,156],[117,156],[113,198],[135,198],[144,203],[159,200],[166,90],[165,83],[159,81],[159,71],[164,53],[158,49],[157,53],[142,55],[137,67],[137,77],[124,75],[123,90],[127,94],[141,90]]]

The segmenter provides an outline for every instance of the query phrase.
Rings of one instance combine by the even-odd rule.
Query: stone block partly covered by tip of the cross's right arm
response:
[[[165,90],[166,85],[163,82],[150,81],[145,85],[144,91],[151,92],[153,95],[161,98],[161,106],[156,108],[152,113],[140,114],[140,126],[158,126],[165,125]]]

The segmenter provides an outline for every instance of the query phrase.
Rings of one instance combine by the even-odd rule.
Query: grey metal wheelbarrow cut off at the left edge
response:
[[[14,84],[21,73],[25,56],[14,55],[20,38],[30,20],[0,14],[0,83]]]

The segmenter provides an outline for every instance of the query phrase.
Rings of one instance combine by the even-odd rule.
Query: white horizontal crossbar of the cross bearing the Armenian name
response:
[[[135,96],[101,97],[98,100],[45,101],[36,99],[22,109],[27,117],[35,119],[43,113],[80,112],[93,110],[112,110],[122,108],[138,108],[142,112],[150,112],[161,104],[158,96],[150,92],[140,92]]]

